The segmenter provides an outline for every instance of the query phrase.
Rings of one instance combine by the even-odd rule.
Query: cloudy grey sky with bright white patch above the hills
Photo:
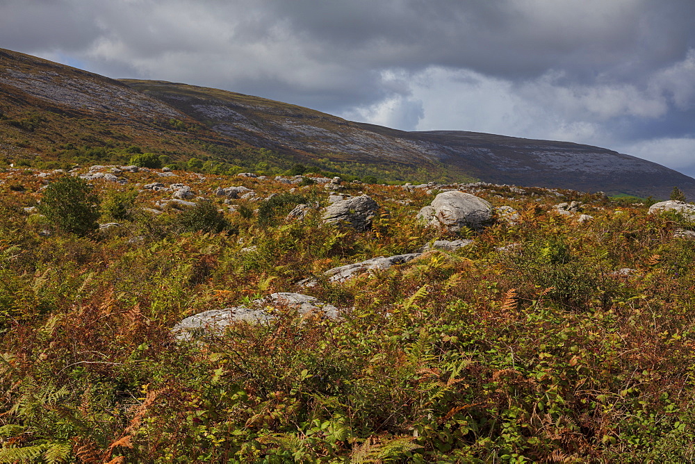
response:
[[[0,0],[0,48],[695,176],[695,0]]]

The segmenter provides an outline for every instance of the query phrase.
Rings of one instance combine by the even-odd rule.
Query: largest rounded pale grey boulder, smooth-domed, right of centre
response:
[[[451,232],[463,227],[480,229],[491,221],[492,205],[470,193],[458,190],[442,192],[434,197],[431,206],[422,208],[417,217]]]

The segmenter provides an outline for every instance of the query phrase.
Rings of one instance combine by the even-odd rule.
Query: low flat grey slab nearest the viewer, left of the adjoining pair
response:
[[[274,319],[262,309],[235,306],[233,308],[211,309],[198,313],[176,324],[171,332],[177,340],[192,340],[205,335],[221,335],[224,329],[235,322],[268,322]]]

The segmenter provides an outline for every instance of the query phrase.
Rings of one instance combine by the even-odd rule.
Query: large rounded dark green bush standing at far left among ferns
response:
[[[79,177],[67,176],[49,184],[38,208],[61,231],[84,236],[99,228],[99,197]]]

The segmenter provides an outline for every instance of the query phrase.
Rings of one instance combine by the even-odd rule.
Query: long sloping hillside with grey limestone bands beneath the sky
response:
[[[149,151],[172,162],[199,158],[217,171],[278,174],[304,163],[384,181],[480,179],[656,198],[678,186],[695,197],[694,179],[598,147],[397,131],[224,90],[115,81],[9,50],[0,50],[0,90],[6,163],[126,163],[133,151]]]

